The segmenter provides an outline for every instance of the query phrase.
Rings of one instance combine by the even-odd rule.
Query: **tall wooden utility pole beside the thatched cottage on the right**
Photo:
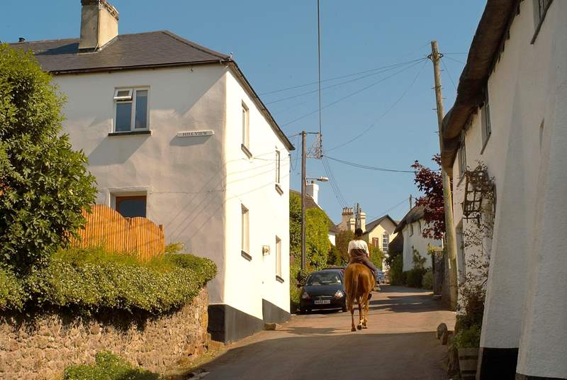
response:
[[[430,59],[433,62],[433,73],[435,78],[435,100],[437,101],[437,122],[439,123],[439,152],[443,152],[443,98],[441,94],[441,71],[439,69],[439,54],[437,41],[431,41]],[[449,285],[451,294],[451,308],[456,308],[457,299],[457,274],[456,274],[456,233],[453,223],[453,198],[451,196],[451,180],[449,174],[441,168],[443,178],[443,200],[445,206],[445,242],[447,254],[449,255]]]

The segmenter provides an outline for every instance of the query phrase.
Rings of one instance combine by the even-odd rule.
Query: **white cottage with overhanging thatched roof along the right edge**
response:
[[[477,379],[567,379],[566,20],[564,0],[488,0],[444,118],[458,233],[466,168],[495,184]]]

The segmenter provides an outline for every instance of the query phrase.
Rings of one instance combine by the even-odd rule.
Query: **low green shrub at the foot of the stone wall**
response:
[[[124,359],[108,351],[97,352],[94,365],[67,367],[64,380],[159,380],[163,379],[144,369],[135,368]]]

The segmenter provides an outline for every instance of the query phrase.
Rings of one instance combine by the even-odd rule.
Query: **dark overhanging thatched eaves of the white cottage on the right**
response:
[[[465,128],[471,113],[485,99],[484,87],[495,67],[504,43],[510,35],[510,26],[520,13],[521,0],[488,0],[468,51],[466,65],[459,78],[454,106],[445,115],[442,124],[442,166],[452,172],[459,134]]]

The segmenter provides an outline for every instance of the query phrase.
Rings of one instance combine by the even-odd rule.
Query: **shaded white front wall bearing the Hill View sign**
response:
[[[225,69],[218,65],[55,77],[67,95],[65,132],[89,157],[97,203],[111,194],[147,193],[147,218],[164,225],[167,242],[209,257],[219,273],[210,301],[223,299],[225,267]],[[108,136],[113,131],[114,89],[150,88],[152,135]],[[176,138],[180,130],[214,130],[206,138]]]

